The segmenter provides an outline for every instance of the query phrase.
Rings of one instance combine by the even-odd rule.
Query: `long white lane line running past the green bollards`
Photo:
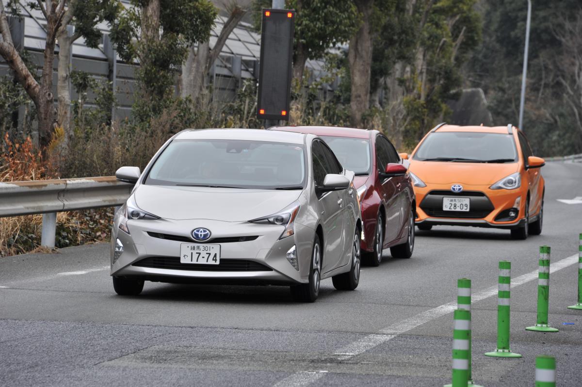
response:
[[[574,254],[571,257],[564,258],[563,260],[559,260],[554,262],[549,267],[549,272],[553,273],[563,268],[572,266],[578,262],[578,254]],[[523,285],[524,283],[533,281],[534,279],[538,279],[538,271],[535,270],[533,272],[529,272],[524,275],[520,275],[514,278],[511,282],[511,287],[517,287]],[[474,293],[472,297],[472,302],[475,303],[477,301],[481,301],[487,299],[489,297],[495,296],[498,292],[498,285],[494,285],[488,287],[485,290],[481,290],[480,292]],[[378,333],[371,333],[370,335],[366,335],[363,338],[356,340],[353,343],[350,343],[343,349],[339,350],[338,352],[334,353],[338,356],[338,360],[347,360],[354,356],[357,356],[361,353],[366,352],[382,343],[385,343],[389,340],[392,340],[398,335],[402,335],[408,331],[411,331],[414,328],[417,328],[420,325],[423,325],[427,322],[430,322],[436,318],[442,317],[443,315],[452,313],[457,308],[457,301],[452,301],[450,303],[443,304],[441,306],[431,308],[427,311],[419,313],[413,317],[404,319],[403,321],[397,322],[396,324],[392,324],[390,326],[386,326],[386,328],[382,328],[379,330]],[[289,377],[283,379],[274,387],[293,387],[293,386],[304,386],[310,384],[311,382],[300,382],[300,375],[305,374],[306,372],[296,372],[291,374]],[[317,375],[317,374],[316,374]],[[317,379],[321,378],[324,374],[319,374],[317,378],[313,380],[316,381]],[[297,384],[293,384],[292,381],[296,380]],[[286,384],[281,384],[284,381]]]

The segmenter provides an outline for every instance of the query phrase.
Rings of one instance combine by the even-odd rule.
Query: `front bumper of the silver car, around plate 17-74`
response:
[[[127,221],[127,227],[130,234],[119,229],[119,214],[116,215],[111,241],[111,275],[140,277],[149,281],[163,282],[258,282],[272,284],[308,282],[315,230],[298,223],[294,225],[294,235],[281,240],[279,240],[279,236],[281,236],[283,226],[249,222],[223,222],[208,219],[181,221],[172,219],[130,219]],[[197,270],[196,264],[179,264],[180,244],[196,243],[191,239],[190,232],[198,227],[211,230],[211,239],[204,243],[220,244],[221,261],[245,260],[258,262],[258,264],[264,265],[265,268],[260,271],[249,271],[248,269],[244,271],[240,269],[224,271],[223,268],[220,271],[214,271],[211,268],[205,268],[202,271],[200,267]],[[151,236],[154,233],[182,237],[184,242]],[[256,236],[257,238],[246,242],[212,242],[212,240],[218,238],[249,236]],[[116,239],[119,239],[123,244],[123,253],[113,262],[113,248]],[[286,258],[286,253],[293,245],[297,249],[299,270],[296,270]],[[151,257],[173,258],[173,262],[179,265],[179,269],[175,269],[176,265],[173,265],[173,268],[143,267],[140,265],[140,261]]]

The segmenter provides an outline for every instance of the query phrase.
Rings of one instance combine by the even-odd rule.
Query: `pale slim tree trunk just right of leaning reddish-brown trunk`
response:
[[[56,95],[58,100],[56,108],[56,125],[61,126],[65,131],[63,150],[66,150],[66,144],[73,134],[70,129],[70,52],[73,38],[70,36],[69,31],[67,31],[66,28],[59,30],[59,34],[56,38],[59,41],[59,65],[56,85]]]

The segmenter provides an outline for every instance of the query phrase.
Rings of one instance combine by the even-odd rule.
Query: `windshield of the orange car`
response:
[[[490,162],[517,161],[513,136],[483,132],[430,133],[413,156],[418,161]]]

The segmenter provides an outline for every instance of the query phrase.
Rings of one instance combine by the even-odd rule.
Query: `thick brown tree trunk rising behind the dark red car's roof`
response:
[[[350,120],[354,127],[361,127],[362,113],[370,107],[370,72],[372,64],[371,14],[374,0],[354,0],[362,24],[350,41],[348,61],[352,78]]]

